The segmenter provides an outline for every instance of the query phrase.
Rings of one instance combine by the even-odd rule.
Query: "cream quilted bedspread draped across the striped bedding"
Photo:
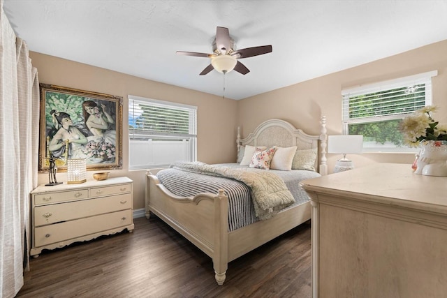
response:
[[[170,165],[177,170],[226,177],[243,182],[251,189],[254,210],[260,220],[268,219],[295,202],[284,181],[276,174],[258,172],[254,169],[234,169],[219,165],[208,165],[201,162]]]

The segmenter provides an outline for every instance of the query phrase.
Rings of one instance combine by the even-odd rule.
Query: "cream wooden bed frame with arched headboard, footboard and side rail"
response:
[[[237,135],[237,149],[241,145],[297,146],[298,149],[318,148],[315,168],[327,174],[325,117],[321,118],[321,135],[307,135],[286,121],[271,119],[259,125],[244,139]],[[166,189],[159,179],[147,172],[145,193],[146,217],[150,212],[159,216],[213,261],[215,278],[219,285],[226,279],[228,262],[278,237],[311,218],[310,202],[299,204],[265,221],[228,232],[228,198],[219,193],[201,193],[194,197],[179,197]]]

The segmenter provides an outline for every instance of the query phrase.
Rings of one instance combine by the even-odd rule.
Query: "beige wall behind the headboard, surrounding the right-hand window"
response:
[[[299,67],[299,66],[295,66]],[[328,134],[342,133],[342,89],[360,84],[392,80],[407,75],[438,70],[432,80],[433,104],[439,106],[436,120],[447,123],[447,40],[393,57],[349,68],[314,80],[294,84],[239,101],[238,124],[243,132],[252,131],[271,118],[290,121],[309,134],[319,134],[319,119],[327,117]],[[254,112],[256,111],[256,112]],[[245,136],[244,133],[242,133]],[[340,156],[328,154],[332,172]],[[412,163],[414,154],[361,154],[349,156],[357,167],[369,163]]]

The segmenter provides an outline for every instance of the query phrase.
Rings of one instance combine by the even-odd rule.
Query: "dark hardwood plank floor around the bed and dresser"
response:
[[[133,233],[43,251],[31,258],[17,297],[311,297],[310,224],[230,262],[226,282],[212,260],[156,216]]]

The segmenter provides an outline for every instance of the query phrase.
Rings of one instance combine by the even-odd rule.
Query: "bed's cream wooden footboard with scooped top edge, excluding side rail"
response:
[[[159,216],[186,239],[212,258],[218,285],[223,285],[228,268],[228,198],[219,193],[179,197],[147,172],[145,208]]]

